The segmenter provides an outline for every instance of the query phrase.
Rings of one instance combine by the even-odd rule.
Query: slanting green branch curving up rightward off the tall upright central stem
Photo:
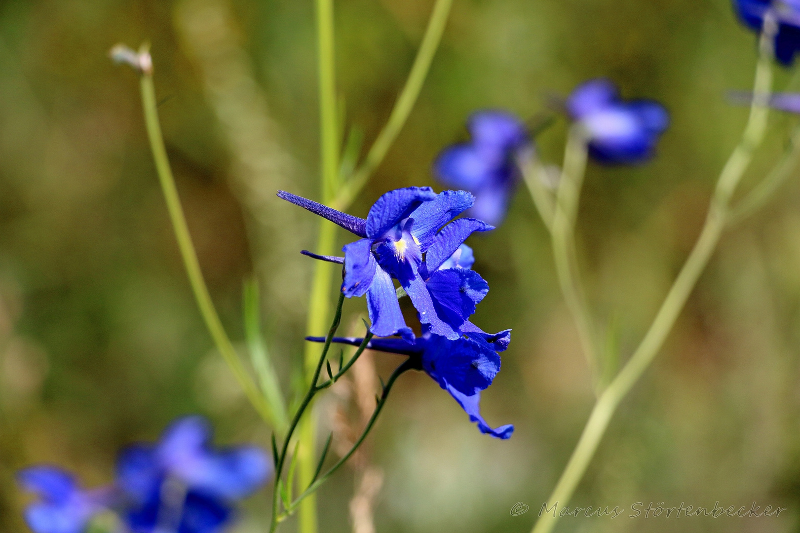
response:
[[[389,115],[386,126],[383,126],[378,137],[375,138],[370,151],[367,152],[366,158],[364,158],[364,162],[336,195],[332,205],[335,209],[344,210],[347,206],[350,206],[370,178],[370,175],[381,164],[386,152],[389,151],[389,147],[406,123],[414,103],[417,102],[419,91],[422,90],[422,84],[428,75],[430,63],[434,60],[439,42],[442,40],[442,33],[450,15],[450,6],[452,4],[453,0],[436,0],[425,35],[422,37],[422,44],[419,46],[417,57],[414,58],[414,65],[411,66],[411,71],[406,79],[406,85],[403,86],[397,102],[394,103],[394,108]]]

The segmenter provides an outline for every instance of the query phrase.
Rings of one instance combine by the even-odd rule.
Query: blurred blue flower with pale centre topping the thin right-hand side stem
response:
[[[570,117],[580,123],[593,158],[606,163],[636,163],[650,158],[670,124],[664,106],[650,100],[623,102],[605,78],[578,86],[566,101]]]

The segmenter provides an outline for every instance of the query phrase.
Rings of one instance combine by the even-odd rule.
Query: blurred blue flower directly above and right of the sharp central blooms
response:
[[[467,129],[470,142],[443,150],[434,162],[434,174],[445,185],[475,195],[470,215],[498,225],[520,175],[515,155],[530,145],[526,127],[514,114],[484,110],[470,116]]]

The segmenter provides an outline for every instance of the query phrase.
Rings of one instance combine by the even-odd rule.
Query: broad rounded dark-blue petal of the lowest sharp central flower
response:
[[[492,384],[500,371],[500,356],[486,343],[431,335],[422,354],[422,368],[443,389],[450,386],[473,395]]]

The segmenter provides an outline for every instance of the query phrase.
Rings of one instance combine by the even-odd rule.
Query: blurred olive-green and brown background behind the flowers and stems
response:
[[[431,0],[336,3],[342,116],[367,142],[385,122]],[[242,339],[242,279],[262,283],[264,331],[285,390],[302,357],[316,221],[274,190],[318,198],[310,0],[6,0],[0,3],[0,531],[27,531],[14,471],[58,463],[106,483],[120,447],[175,416],[214,420],[218,442],[266,447],[194,304],[117,42],[150,41],[178,189],[214,301]],[[746,120],[754,35],[728,0],[455,0],[417,106],[353,214],[384,191],[432,185],[438,151],[472,110],[530,117],[607,76],[657,98],[672,125],[658,158],[590,166],[580,255],[598,320],[624,359],[696,238]],[[792,73],[778,74],[778,87]],[[786,142],[774,116],[744,188]],[[541,138],[558,162],[562,122]],[[622,404],[574,503],[788,507],[776,518],[562,519],[558,531],[798,531],[800,172],[731,230],[654,366]],[[436,186],[438,190],[441,187]],[[385,475],[377,531],[529,531],[592,404],[550,244],[526,190],[472,238],[491,291],[474,322],[514,329],[481,435],[425,375],[406,375],[374,433]],[[342,243],[348,238],[340,234]],[[346,305],[352,322],[363,300]],[[350,321],[350,322],[347,322]],[[382,375],[396,360],[378,356]],[[331,397],[332,398],[332,397]],[[330,427],[326,399],[317,414]],[[350,531],[351,471],[320,495],[321,531]],[[517,502],[530,511],[510,515]],[[237,531],[262,531],[266,491]],[[291,531],[293,523],[287,524]]]

